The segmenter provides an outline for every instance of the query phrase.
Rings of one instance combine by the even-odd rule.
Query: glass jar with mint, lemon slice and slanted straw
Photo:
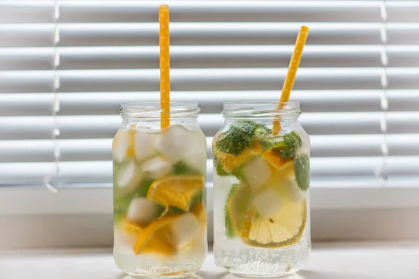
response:
[[[286,276],[309,257],[310,140],[299,115],[297,102],[224,103],[212,142],[214,257],[237,276]]]

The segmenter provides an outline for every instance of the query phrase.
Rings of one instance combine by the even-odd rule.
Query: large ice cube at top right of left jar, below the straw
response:
[[[205,136],[200,131],[189,131],[174,125],[164,130],[156,140],[156,149],[170,162],[177,163],[189,159],[189,154],[206,150]],[[192,158],[192,157],[191,157]]]

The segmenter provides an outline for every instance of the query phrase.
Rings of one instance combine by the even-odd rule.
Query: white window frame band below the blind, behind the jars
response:
[[[312,188],[311,238],[419,239],[419,188]],[[212,190],[207,190],[212,241]],[[0,248],[112,246],[112,189],[0,188]]]

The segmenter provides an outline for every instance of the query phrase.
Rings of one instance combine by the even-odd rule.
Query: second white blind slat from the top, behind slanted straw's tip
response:
[[[284,26],[285,25],[285,26]],[[380,45],[381,24],[312,24],[311,45]],[[293,23],[172,23],[172,45],[292,45],[300,24]],[[59,45],[157,45],[158,24],[59,24]],[[388,43],[415,45],[418,24],[389,23]],[[0,24],[0,47],[45,47],[52,42],[53,24]],[[6,40],[7,39],[7,40]]]

